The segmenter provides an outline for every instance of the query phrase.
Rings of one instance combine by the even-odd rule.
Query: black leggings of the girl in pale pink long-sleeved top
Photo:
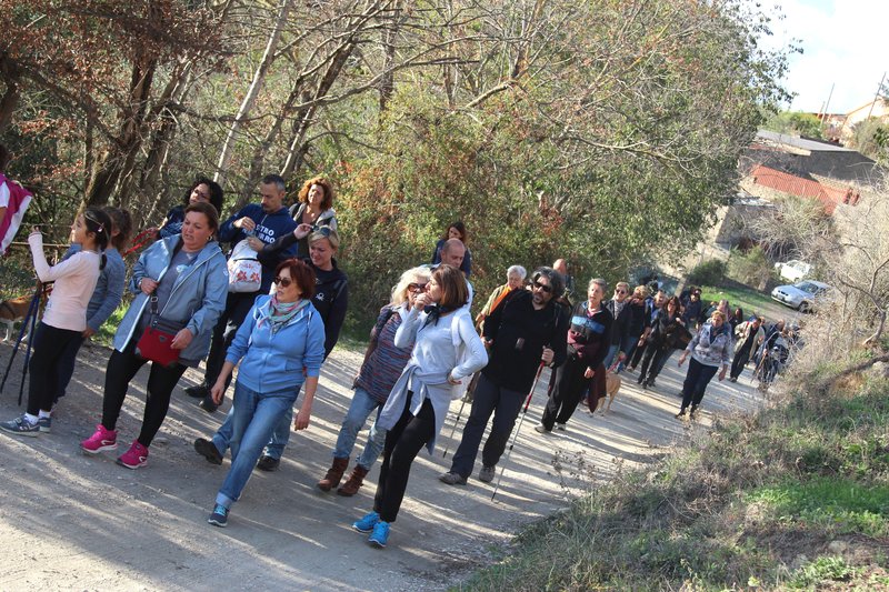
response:
[[[56,402],[61,383],[62,374],[66,369],[73,370],[74,358],[80,344],[83,343],[83,334],[80,331],[69,329],[58,329],[50,327],[43,321],[37,325],[33,335],[33,353],[28,369],[31,373],[28,383],[28,413],[37,415],[40,410],[50,411],[52,403]],[[71,380],[71,374],[67,375],[62,391]]]

